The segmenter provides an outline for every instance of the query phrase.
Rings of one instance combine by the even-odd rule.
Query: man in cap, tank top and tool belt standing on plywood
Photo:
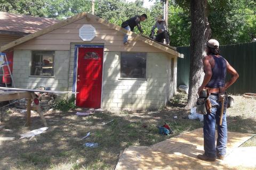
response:
[[[236,70],[220,56],[219,42],[210,39],[207,42],[207,56],[203,58],[204,80],[198,89],[198,95],[203,89],[208,90],[210,96],[210,112],[204,115],[204,154],[197,158],[207,161],[223,160],[227,148],[227,96],[226,89],[239,77]],[[225,83],[226,73],[231,79]],[[206,107],[207,108],[207,107]],[[222,117],[222,118],[221,118]],[[217,146],[215,146],[215,124],[218,127]]]

